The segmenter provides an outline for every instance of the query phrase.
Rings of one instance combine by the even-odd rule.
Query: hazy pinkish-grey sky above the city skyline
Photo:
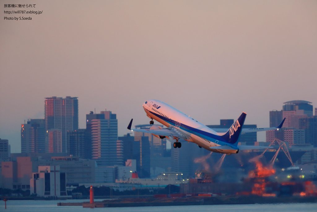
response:
[[[12,153],[47,96],[78,97],[79,128],[107,108],[119,136],[131,118],[149,122],[148,99],[205,125],[244,111],[246,124],[269,127],[283,102],[317,107],[316,1],[34,4],[41,15],[0,24],[0,138]]]

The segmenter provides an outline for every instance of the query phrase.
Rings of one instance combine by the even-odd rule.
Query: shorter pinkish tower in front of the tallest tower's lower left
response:
[[[62,152],[62,132],[61,130],[46,131],[46,152]]]

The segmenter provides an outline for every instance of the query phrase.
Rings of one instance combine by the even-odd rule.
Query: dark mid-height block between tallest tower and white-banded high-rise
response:
[[[85,133],[86,129],[78,129],[67,132],[68,155],[86,158],[85,156]]]

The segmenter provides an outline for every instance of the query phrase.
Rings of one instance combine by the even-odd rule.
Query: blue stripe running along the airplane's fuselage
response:
[[[146,109],[146,110],[147,110],[147,109]],[[149,110],[147,110],[147,111],[149,111]],[[159,117],[160,119],[162,119],[162,120],[164,120],[164,121],[170,123],[172,126],[176,127],[176,122],[178,122],[178,121],[175,121],[175,120],[166,118],[166,117],[164,117],[164,116],[162,116],[162,115],[160,115],[160,114],[158,114],[158,113],[153,113],[153,112],[151,112],[151,111],[149,111],[149,112],[152,113],[153,115]],[[180,122],[178,122],[178,123],[180,123]],[[184,127],[187,127],[187,128],[184,128]],[[197,129],[197,128],[184,125],[184,124],[182,124],[182,123],[180,123],[180,127],[179,127],[179,128],[182,129],[182,130],[184,130],[184,131],[186,131],[186,132],[188,132],[188,133],[193,133],[194,135],[196,135],[195,133],[197,133],[197,134],[198,134],[197,136],[201,136],[201,137],[203,137],[203,138],[205,138],[205,139],[207,139],[207,140],[210,140],[210,138],[211,138],[211,139],[214,139],[214,140],[218,140],[218,141],[220,141],[220,142],[223,141],[223,142],[225,142],[225,143],[228,143],[226,140],[224,140],[224,139],[223,139],[221,136],[219,136],[219,135],[215,135],[215,134],[212,134],[212,133],[208,133],[208,132],[205,132],[205,131],[203,131],[203,130],[199,130],[199,129]],[[192,131],[192,132],[191,132],[191,131]],[[202,136],[202,135],[204,135],[204,136]],[[219,143],[219,144],[221,144],[221,143]]]

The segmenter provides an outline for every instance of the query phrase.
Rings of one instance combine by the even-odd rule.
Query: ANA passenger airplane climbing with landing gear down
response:
[[[172,140],[176,140],[173,144],[174,148],[181,148],[182,144],[178,140],[184,139],[188,142],[196,143],[200,148],[203,147],[211,152],[222,154],[237,154],[239,150],[272,148],[237,144],[241,133],[279,130],[285,121],[284,118],[278,127],[242,129],[247,115],[242,112],[229,130],[217,129],[218,132],[216,132],[214,129],[210,129],[189,115],[182,113],[162,101],[151,99],[143,103],[142,106],[146,115],[151,119],[150,124],[153,126],[151,126],[150,129],[131,129],[133,121],[133,119],[131,119],[127,127],[129,130],[152,133],[152,135],[161,139],[167,138],[170,140],[170,138],[173,138]],[[166,128],[154,125],[153,119],[166,126]]]

